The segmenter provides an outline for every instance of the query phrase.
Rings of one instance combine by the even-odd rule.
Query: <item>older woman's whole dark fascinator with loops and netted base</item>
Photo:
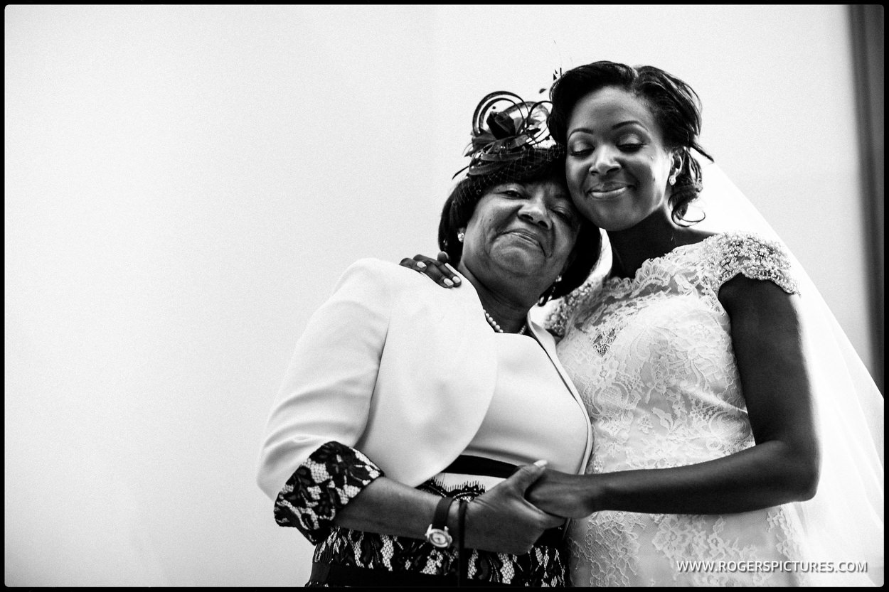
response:
[[[472,135],[463,154],[469,156],[469,165],[454,174],[456,178],[466,172],[461,193],[479,196],[498,183],[548,172],[565,156],[565,149],[549,135],[547,117],[548,100],[523,100],[508,91],[485,96],[472,116]]]

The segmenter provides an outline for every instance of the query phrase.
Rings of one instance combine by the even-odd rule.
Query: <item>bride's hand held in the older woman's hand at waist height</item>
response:
[[[547,469],[528,487],[525,498],[549,514],[583,518],[598,511],[600,480],[595,475],[571,475]]]

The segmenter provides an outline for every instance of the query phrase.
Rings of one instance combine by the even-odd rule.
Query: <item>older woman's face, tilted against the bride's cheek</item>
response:
[[[461,266],[476,276],[493,271],[526,277],[536,300],[567,267],[580,226],[580,213],[563,183],[501,183],[476,205]]]

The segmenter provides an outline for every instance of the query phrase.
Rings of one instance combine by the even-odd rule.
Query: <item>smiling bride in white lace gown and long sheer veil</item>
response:
[[[551,99],[573,200],[611,255],[549,316],[594,430],[587,475],[528,493],[583,518],[573,584],[882,584],[882,397],[786,247],[701,172],[697,95],[603,61]],[[756,232],[685,219],[702,176],[707,215]]]

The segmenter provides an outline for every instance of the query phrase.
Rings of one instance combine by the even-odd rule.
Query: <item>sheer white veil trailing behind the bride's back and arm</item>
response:
[[[837,571],[849,568],[840,567],[840,562],[867,562],[866,573],[854,571],[856,568],[843,573],[805,571],[816,584],[882,585],[883,396],[781,237],[717,164],[703,157],[698,160],[704,188],[693,204],[706,213],[706,219],[695,228],[744,230],[780,242],[789,253],[799,285],[804,348],[821,444],[818,492],[813,500],[792,504],[806,533],[800,556],[805,562],[829,562]],[[693,213],[689,212],[690,219],[695,218]]]

